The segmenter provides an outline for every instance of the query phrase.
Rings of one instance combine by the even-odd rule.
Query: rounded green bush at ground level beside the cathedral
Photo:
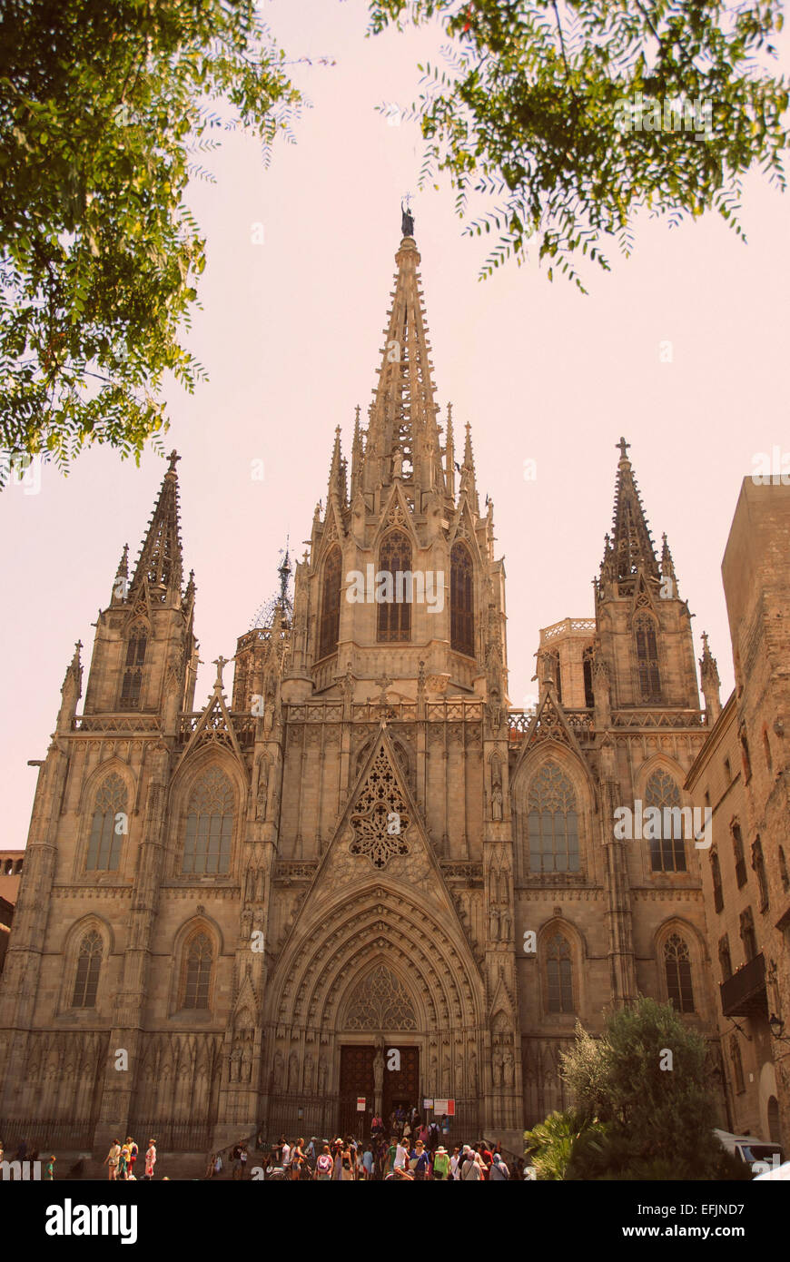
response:
[[[665,1050],[671,1069],[661,1069]],[[574,1148],[567,1177],[722,1177],[705,1042],[670,1003],[640,998],[597,1040],[577,1026],[562,1071],[579,1116],[603,1123]]]

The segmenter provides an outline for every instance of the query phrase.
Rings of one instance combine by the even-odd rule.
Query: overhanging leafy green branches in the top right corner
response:
[[[549,279],[557,266],[583,289],[574,257],[608,270],[606,240],[630,254],[641,208],[670,223],[713,209],[741,236],[743,173],[758,164],[785,187],[787,83],[769,72],[779,0],[371,0],[370,11],[372,33],[435,18],[453,40],[444,67],[420,67],[413,111],[429,141],[423,184],[449,173],[464,217],[469,192],[504,199],[467,223],[500,233],[483,275],[534,242]],[[660,106],[660,130],[650,111],[641,129],[623,112],[636,93]],[[668,120],[674,101],[690,126]],[[705,101],[698,127],[693,102]]]

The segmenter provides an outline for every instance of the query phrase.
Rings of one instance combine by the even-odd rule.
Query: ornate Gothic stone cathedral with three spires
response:
[[[6,1146],[192,1151],[430,1099],[451,1137],[521,1151],[568,1103],[577,1020],[639,993],[716,1071],[704,851],[615,827],[688,804],[716,665],[703,708],[621,440],[593,616],[540,632],[538,704],[509,705],[493,505],[469,427],[457,449],[449,406],[439,424],[419,262],[404,236],[367,423],[350,464],[337,432],[293,601],[284,567],[232,687],[218,658],[196,711],[175,456],[81,713],[77,646],[0,986]]]

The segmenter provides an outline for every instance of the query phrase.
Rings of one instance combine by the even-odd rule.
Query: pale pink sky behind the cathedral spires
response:
[[[700,632],[710,634],[724,699],[732,656],[719,567],[729,522],[755,453],[790,443],[787,198],[748,182],[747,246],[713,216],[671,231],[645,221],[630,260],[587,273],[588,297],[550,284],[531,260],[478,283],[492,241],[461,236],[447,186],[418,193],[416,125],[390,126],[374,109],[410,103],[416,62],[438,59],[435,33],[366,40],[362,0],[275,0],[265,14],[290,56],[329,54],[337,66],[294,68],[314,107],[297,145],[278,143],[269,172],[254,139],[231,138],[209,155],[217,183],[191,191],[208,266],[188,345],[211,380],[194,396],[169,389],[165,443],[182,456],[184,564],[196,570],[208,664],[196,704],[207,699],[212,659],[233,655],[273,594],[286,534],[302,553],[326,496],[334,427],[348,454],[355,404],[366,414],[405,191],[416,194],[440,423],[448,400],[457,433],[472,423],[481,502],[486,492],[495,502],[511,703],[535,692],[539,628],[592,616],[621,433],[659,548],[669,536],[698,656]],[[251,241],[257,222],[264,245]],[[671,363],[659,361],[664,339]],[[256,459],[264,481],[251,478]],[[524,480],[528,459],[536,481]],[[91,623],[125,541],[136,557],[165,468],[154,454],[138,469],[96,449],[67,480],[44,468],[38,495],[0,496],[6,847],[25,843],[37,775],[27,760],[45,756],[73,642],[85,644],[85,685]]]

